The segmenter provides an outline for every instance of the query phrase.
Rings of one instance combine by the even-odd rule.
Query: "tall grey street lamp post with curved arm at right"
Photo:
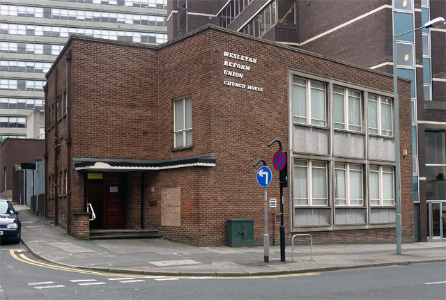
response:
[[[437,17],[424,26],[406,31],[404,33],[393,35],[393,97],[394,97],[394,126],[395,126],[395,190],[397,200],[397,220],[396,220],[396,233],[397,233],[397,254],[401,254],[401,184],[400,184],[400,170],[399,170],[399,119],[398,119],[398,76],[397,76],[397,38],[406,33],[411,33],[418,29],[439,27],[446,24],[445,18]]]

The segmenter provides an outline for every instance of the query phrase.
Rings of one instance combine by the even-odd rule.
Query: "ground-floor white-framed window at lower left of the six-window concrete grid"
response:
[[[327,206],[327,162],[295,159],[294,205]]]

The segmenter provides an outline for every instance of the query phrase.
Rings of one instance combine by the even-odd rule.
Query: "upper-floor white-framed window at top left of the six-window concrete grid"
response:
[[[323,82],[293,77],[293,122],[325,127],[325,91]]]

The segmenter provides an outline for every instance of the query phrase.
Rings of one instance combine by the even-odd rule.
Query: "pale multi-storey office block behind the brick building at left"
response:
[[[162,44],[167,0],[1,0],[0,23],[0,135],[44,139],[29,116],[44,111],[45,73],[70,35]]]

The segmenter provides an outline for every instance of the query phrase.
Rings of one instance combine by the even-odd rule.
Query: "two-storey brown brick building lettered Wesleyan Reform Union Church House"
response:
[[[289,152],[287,241],[294,232],[316,242],[394,241],[388,74],[209,25],[160,46],[72,36],[45,95],[46,211],[79,238],[93,228],[155,228],[222,245],[226,220],[241,218],[254,219],[261,242],[263,189],[252,164],[271,165],[277,149],[267,145],[279,139]],[[404,79],[399,95],[402,232],[413,242]],[[278,177],[270,198],[279,198]],[[278,240],[278,219],[268,225]]]

